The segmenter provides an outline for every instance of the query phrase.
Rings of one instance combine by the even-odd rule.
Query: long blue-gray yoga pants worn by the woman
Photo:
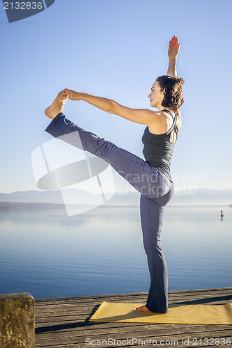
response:
[[[144,159],[118,148],[114,143],[100,138],[96,134],[87,132],[65,118],[63,113],[59,113],[45,130],[56,138],[61,136],[61,139],[63,135],[70,134],[70,136],[65,136],[66,142],[107,161],[132,187],[141,193],[141,228],[150,272],[150,289],[146,307],[155,313],[167,313],[167,265],[160,244],[160,233],[164,206],[173,196],[173,183]],[[72,134],[73,132],[78,132],[79,136]]]

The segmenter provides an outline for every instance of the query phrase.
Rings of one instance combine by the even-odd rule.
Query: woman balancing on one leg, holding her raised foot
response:
[[[179,107],[184,102],[182,94],[184,80],[178,78],[176,73],[176,57],[179,49],[178,38],[173,36],[169,42],[167,75],[157,77],[148,95],[150,106],[159,111],[130,109],[114,100],[79,93],[68,88],[61,91],[45,110],[45,114],[52,118],[46,132],[55,137],[65,134],[65,141],[68,143],[105,159],[141,193],[141,229],[150,272],[150,289],[146,305],[137,308],[141,312],[168,312],[167,265],[160,245],[160,233],[164,207],[171,200],[174,192],[170,165],[173,147],[181,127]],[[84,100],[99,109],[146,125],[142,137],[146,160],[118,148],[114,143],[96,134],[87,132],[65,118],[62,111],[68,98]],[[78,132],[77,136],[72,134],[73,132]],[[68,134],[70,139],[67,138]]]

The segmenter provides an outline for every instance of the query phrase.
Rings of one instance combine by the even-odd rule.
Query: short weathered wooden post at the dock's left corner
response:
[[[35,301],[30,294],[0,294],[0,347],[35,347]]]

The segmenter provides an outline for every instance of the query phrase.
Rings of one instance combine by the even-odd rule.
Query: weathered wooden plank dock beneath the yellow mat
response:
[[[231,325],[88,320],[102,301],[145,303],[146,298],[147,292],[36,299],[35,347],[232,347]],[[232,302],[232,287],[169,292],[169,307],[229,302]]]

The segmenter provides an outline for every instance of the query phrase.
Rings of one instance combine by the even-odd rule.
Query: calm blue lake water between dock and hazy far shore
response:
[[[169,290],[231,287],[232,208],[166,207]],[[0,212],[0,293],[34,298],[148,292],[139,207]]]

